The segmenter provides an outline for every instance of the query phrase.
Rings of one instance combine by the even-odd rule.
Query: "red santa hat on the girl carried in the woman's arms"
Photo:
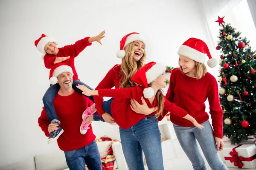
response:
[[[153,88],[148,87],[148,84],[153,82],[154,79],[159,77],[166,71],[166,66],[158,62],[149,62],[140,68],[134,76],[131,78],[132,81],[139,85],[142,85],[145,89],[143,91],[145,98],[151,98],[154,96]]]

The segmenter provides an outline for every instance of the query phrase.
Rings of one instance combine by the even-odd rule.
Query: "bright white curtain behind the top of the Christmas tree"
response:
[[[247,0],[198,0],[205,14],[205,21],[209,28],[209,37],[213,45],[217,46],[219,26],[215,23],[218,16],[224,17],[225,23],[230,23],[241,32],[241,37],[250,40],[252,50],[256,50],[256,28]]]

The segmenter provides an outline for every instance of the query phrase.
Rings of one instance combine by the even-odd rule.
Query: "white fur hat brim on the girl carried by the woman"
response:
[[[153,65],[148,71],[146,72],[146,78],[148,84],[153,82],[154,79],[159,77],[162,73],[166,71],[166,66],[162,65],[161,63],[157,62]]]

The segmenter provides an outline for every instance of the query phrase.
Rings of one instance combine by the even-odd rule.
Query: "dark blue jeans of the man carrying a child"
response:
[[[70,170],[85,170],[84,164],[89,170],[102,170],[99,149],[95,140],[81,149],[64,151],[64,153]]]

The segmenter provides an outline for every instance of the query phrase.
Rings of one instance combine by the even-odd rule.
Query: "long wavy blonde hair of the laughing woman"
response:
[[[131,81],[137,70],[145,65],[146,52],[144,50],[143,56],[139,61],[134,61],[134,42],[131,42],[125,47],[125,57],[122,58],[121,71],[122,78],[120,81],[120,88],[134,87],[137,83]]]

